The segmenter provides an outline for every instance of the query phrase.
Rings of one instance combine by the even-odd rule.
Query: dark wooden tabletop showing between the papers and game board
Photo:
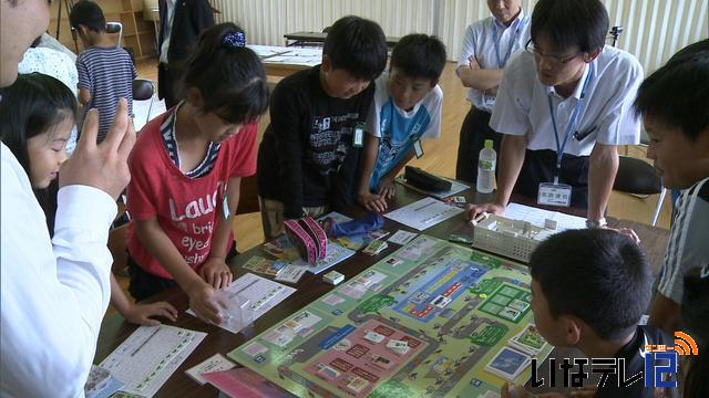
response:
[[[463,193],[467,198],[469,202],[481,203],[485,201],[490,201],[493,199],[492,193],[483,195],[476,193],[472,190],[466,190]],[[423,198],[422,193],[419,193],[412,189],[405,188],[403,186],[397,185],[397,196],[395,200],[393,200],[392,208],[402,207],[404,205],[411,203],[415,200]],[[514,200],[516,202],[524,202],[524,200]],[[528,205],[528,203],[527,203]],[[361,216],[363,211],[361,209],[354,209],[350,214],[351,217]],[[648,256],[653,260],[654,264],[659,264],[662,259],[665,248],[667,245],[668,231],[653,228],[646,224],[640,224],[633,221],[623,221],[616,219],[609,219],[608,223],[612,227],[629,227],[633,228],[637,234],[640,237],[643,241],[643,247],[648,253]],[[399,224],[392,220],[387,219],[386,228],[387,230],[399,230],[404,229],[409,231],[414,231],[405,226]],[[418,231],[414,231],[418,232]],[[454,217],[449,219],[440,224],[431,227],[423,231],[423,233],[446,239],[451,233],[472,233],[472,229],[467,227],[467,223],[464,222],[463,216]],[[366,254],[357,253],[348,260],[337,264],[333,266],[333,270],[346,275],[347,280],[352,276],[359,274],[370,265],[386,258],[390,253],[398,250],[398,245],[390,245],[380,255],[372,258]],[[259,248],[250,249],[240,255],[233,259],[229,265],[232,265],[232,271],[235,273],[235,279],[242,276],[246,273],[244,269],[240,268],[243,263],[245,263],[253,255],[261,255],[268,256],[265,252],[263,252]],[[314,275],[311,273],[306,273],[300,282],[296,285],[298,291],[294,293],[291,296],[286,298],[282,303],[280,303],[276,308],[273,308],[264,316],[258,318],[251,331],[249,331],[247,336],[244,336],[243,333],[238,335],[234,335],[227,331],[224,331],[217,326],[208,325],[196,317],[184,313],[188,307],[187,296],[179,289],[172,289],[165,292],[160,293],[158,295],[152,297],[148,301],[160,301],[165,300],[172,303],[179,312],[181,315],[177,322],[165,322],[165,324],[174,325],[178,327],[184,327],[188,329],[199,331],[207,333],[205,339],[197,346],[197,349],[182,364],[182,366],[173,374],[173,376],[167,380],[167,383],[162,387],[162,389],[157,392],[157,397],[215,397],[217,396],[217,390],[210,385],[199,386],[193,379],[185,375],[185,370],[202,363],[208,357],[213,356],[216,353],[226,354],[232,352],[237,346],[244,344],[248,338],[260,334],[267,328],[274,326],[279,321],[282,321],[287,316],[296,313],[301,310],[309,303],[316,301],[321,297],[323,294],[332,291],[335,286],[331,286],[321,280],[321,275]],[[164,320],[163,320],[164,321]],[[120,315],[107,316],[104,318],[103,324],[101,325],[101,334],[99,336],[99,345],[96,348],[96,355],[94,363],[99,364],[106,356],[109,356],[125,338],[127,338],[133,331],[135,331],[137,326],[131,325],[124,322],[123,317]],[[568,354],[573,353],[567,349],[555,350],[553,353],[554,356],[569,356]]]

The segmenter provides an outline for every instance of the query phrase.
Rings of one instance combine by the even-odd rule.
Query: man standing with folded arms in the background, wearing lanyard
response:
[[[455,178],[475,182],[477,157],[485,139],[500,150],[502,135],[490,128],[490,116],[502,81],[502,70],[530,40],[530,15],[520,0],[487,0],[492,13],[465,30],[455,73],[469,87],[470,111],[461,126]]]

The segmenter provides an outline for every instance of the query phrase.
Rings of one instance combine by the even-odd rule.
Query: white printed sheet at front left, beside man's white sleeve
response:
[[[125,384],[121,391],[152,397],[206,335],[167,325],[141,326],[100,366]]]

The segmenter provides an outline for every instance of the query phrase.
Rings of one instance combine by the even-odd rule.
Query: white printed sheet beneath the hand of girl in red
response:
[[[224,290],[229,307],[235,308],[235,311],[240,307],[240,304],[244,303],[245,300],[248,300],[249,303],[246,310],[249,311],[251,322],[258,320],[259,316],[264,315],[268,310],[275,307],[295,292],[296,290],[290,286],[254,275],[253,273],[246,273]],[[187,310],[187,313],[195,315],[192,308]],[[232,333],[239,333],[239,329],[235,329],[228,325],[218,326]]]

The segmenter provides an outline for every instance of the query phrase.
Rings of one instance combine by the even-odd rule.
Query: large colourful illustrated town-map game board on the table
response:
[[[533,322],[530,281],[526,266],[420,235],[229,357],[299,397],[499,392],[505,379],[485,367]],[[530,375],[527,362],[510,378]]]

